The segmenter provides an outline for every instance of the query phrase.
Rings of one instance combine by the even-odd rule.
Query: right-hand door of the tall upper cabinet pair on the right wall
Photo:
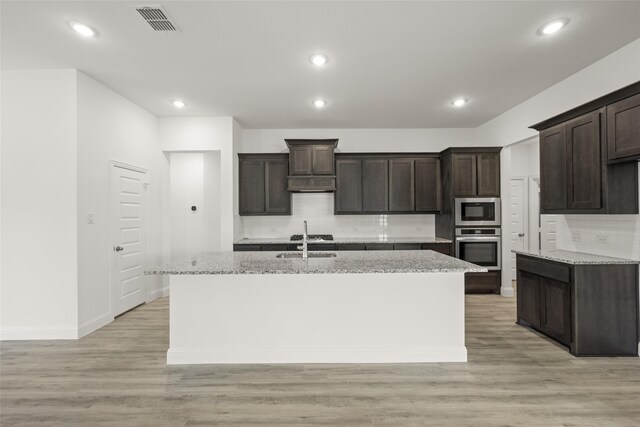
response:
[[[566,124],[567,206],[569,209],[602,207],[600,113],[590,113]]]

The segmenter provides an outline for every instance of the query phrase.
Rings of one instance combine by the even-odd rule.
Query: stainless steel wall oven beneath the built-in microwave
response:
[[[456,228],[456,258],[500,270],[501,233],[499,228]]]

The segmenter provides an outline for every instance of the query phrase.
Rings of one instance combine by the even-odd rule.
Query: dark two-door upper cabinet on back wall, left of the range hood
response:
[[[290,215],[287,154],[238,154],[239,214]]]

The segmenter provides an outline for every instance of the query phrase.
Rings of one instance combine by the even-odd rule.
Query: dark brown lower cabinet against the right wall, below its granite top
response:
[[[637,356],[634,264],[571,265],[518,255],[517,322],[575,356]]]

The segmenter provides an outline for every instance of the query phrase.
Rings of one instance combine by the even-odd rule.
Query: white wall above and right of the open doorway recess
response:
[[[237,170],[234,160],[234,120],[232,117],[167,117],[159,121],[161,149],[165,153],[175,152],[219,152],[219,199],[220,250],[233,250],[234,209],[237,212]],[[236,136],[237,140],[237,136]],[[166,197],[169,199],[168,190]],[[166,207],[166,206],[165,206]],[[169,221],[169,206],[165,218]],[[173,224],[171,225],[173,228]],[[171,232],[171,235],[173,233]],[[172,242],[170,243],[172,244]]]

